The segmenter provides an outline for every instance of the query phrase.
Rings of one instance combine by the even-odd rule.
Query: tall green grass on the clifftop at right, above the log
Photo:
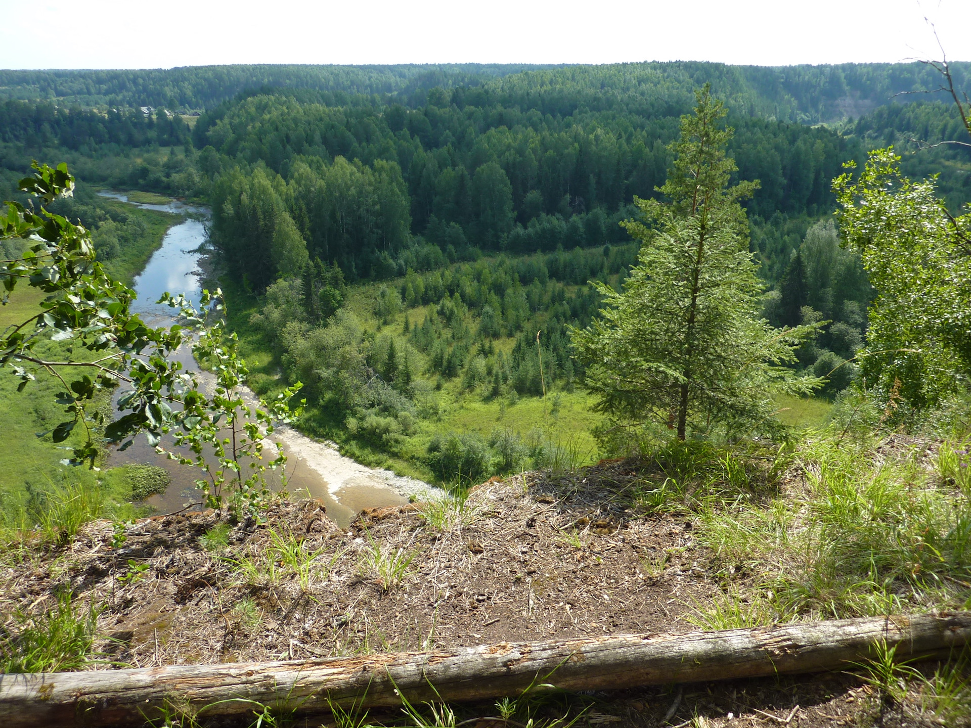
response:
[[[748,587],[767,595],[766,619],[964,604],[971,501],[958,479],[966,452],[946,443],[935,472],[923,447],[894,452],[878,445],[844,439],[835,428],[816,431],[799,451],[804,484],[790,480],[785,498],[737,499],[701,513],[699,544],[711,549],[722,574],[760,575]],[[748,609],[715,604],[696,610],[695,620],[743,626],[751,621]]]

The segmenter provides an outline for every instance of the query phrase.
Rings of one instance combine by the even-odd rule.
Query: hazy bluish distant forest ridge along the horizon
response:
[[[954,64],[963,83],[965,64]],[[846,63],[824,66],[728,66],[675,61],[603,66],[440,64],[398,66],[228,65],[118,71],[0,71],[0,98],[50,100],[83,106],[161,106],[211,109],[251,88],[280,87],[394,96],[422,105],[434,87],[482,86],[489,103],[600,108],[637,97],[654,112],[663,105],[683,114],[692,89],[712,83],[735,113],[791,121],[832,121],[861,116],[894,94],[937,86],[935,72],[919,63]],[[476,103],[476,102],[474,102]],[[479,104],[481,105],[481,104]],[[459,104],[461,106],[461,104]],[[677,109],[675,109],[677,107]],[[644,111],[644,108],[639,111]]]

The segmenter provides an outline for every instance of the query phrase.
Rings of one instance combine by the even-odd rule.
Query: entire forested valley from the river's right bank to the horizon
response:
[[[485,453],[471,477],[539,462],[552,447],[522,428],[456,434],[441,408],[473,393],[499,406],[547,386],[580,396],[585,369],[570,327],[602,305],[594,283],[618,288],[636,262],[621,223],[641,215],[635,200],[664,199],[697,83],[725,99],[731,179],[759,182],[743,202],[766,286],[759,314],[774,326],[819,325],[789,366],[831,375],[819,395],[833,400],[857,377],[875,292],[859,255],[840,245],[831,181],[847,160],[892,144],[908,174],[939,175],[952,209],[967,199],[967,149],[934,147],[962,128],[954,105],[906,93],[931,72],[691,63],[5,72],[0,149],[8,170],[56,149],[84,182],[208,203],[225,287],[248,312],[233,325],[259,337],[257,358],[270,356],[251,386],[301,381],[311,431],[358,458],[390,456],[448,480],[436,438],[460,435],[460,449]],[[958,83],[963,73],[955,64]],[[125,229],[91,195],[58,204],[95,231],[99,256],[117,255]],[[281,370],[282,380],[271,374]],[[500,449],[520,454],[496,454],[510,437]]]

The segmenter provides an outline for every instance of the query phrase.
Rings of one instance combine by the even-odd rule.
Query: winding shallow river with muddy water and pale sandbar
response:
[[[103,196],[127,202],[125,195],[117,192],[101,192]],[[135,204],[135,203],[130,203]],[[148,210],[161,210],[177,214],[193,214],[205,217],[205,208],[172,202],[168,205],[139,205]],[[155,303],[165,291],[184,293],[193,304],[199,303],[202,291],[202,272],[199,259],[203,255],[200,246],[206,239],[205,222],[200,219],[186,218],[172,226],[165,235],[161,248],[158,248],[146,264],[145,270],[135,279],[134,287],[138,300],[132,307],[154,326],[169,326],[174,322],[172,310]],[[192,354],[188,347],[182,347],[175,354],[186,369],[195,369]],[[209,376],[200,373],[205,382]],[[122,387],[123,389],[123,387]],[[120,396],[121,392],[118,392]],[[255,402],[250,390],[244,396]],[[309,495],[321,499],[327,505],[327,513],[341,526],[346,526],[352,517],[365,508],[378,508],[405,503],[409,496],[437,497],[442,491],[427,483],[411,478],[396,476],[390,471],[368,468],[351,458],[345,457],[328,443],[319,443],[301,435],[290,428],[282,428],[274,436],[275,442],[284,447],[288,457],[286,464],[286,488],[291,493]],[[164,445],[164,443],[163,443]],[[172,478],[165,493],[153,495],[149,503],[157,513],[173,513],[186,505],[199,503],[201,492],[195,487],[195,480],[202,472],[189,466],[180,465],[155,452],[144,435],[136,438],[135,443],[124,451],[113,450],[108,466],[125,463],[146,463],[165,468]],[[275,489],[282,486],[280,474],[271,474],[270,485]]]

